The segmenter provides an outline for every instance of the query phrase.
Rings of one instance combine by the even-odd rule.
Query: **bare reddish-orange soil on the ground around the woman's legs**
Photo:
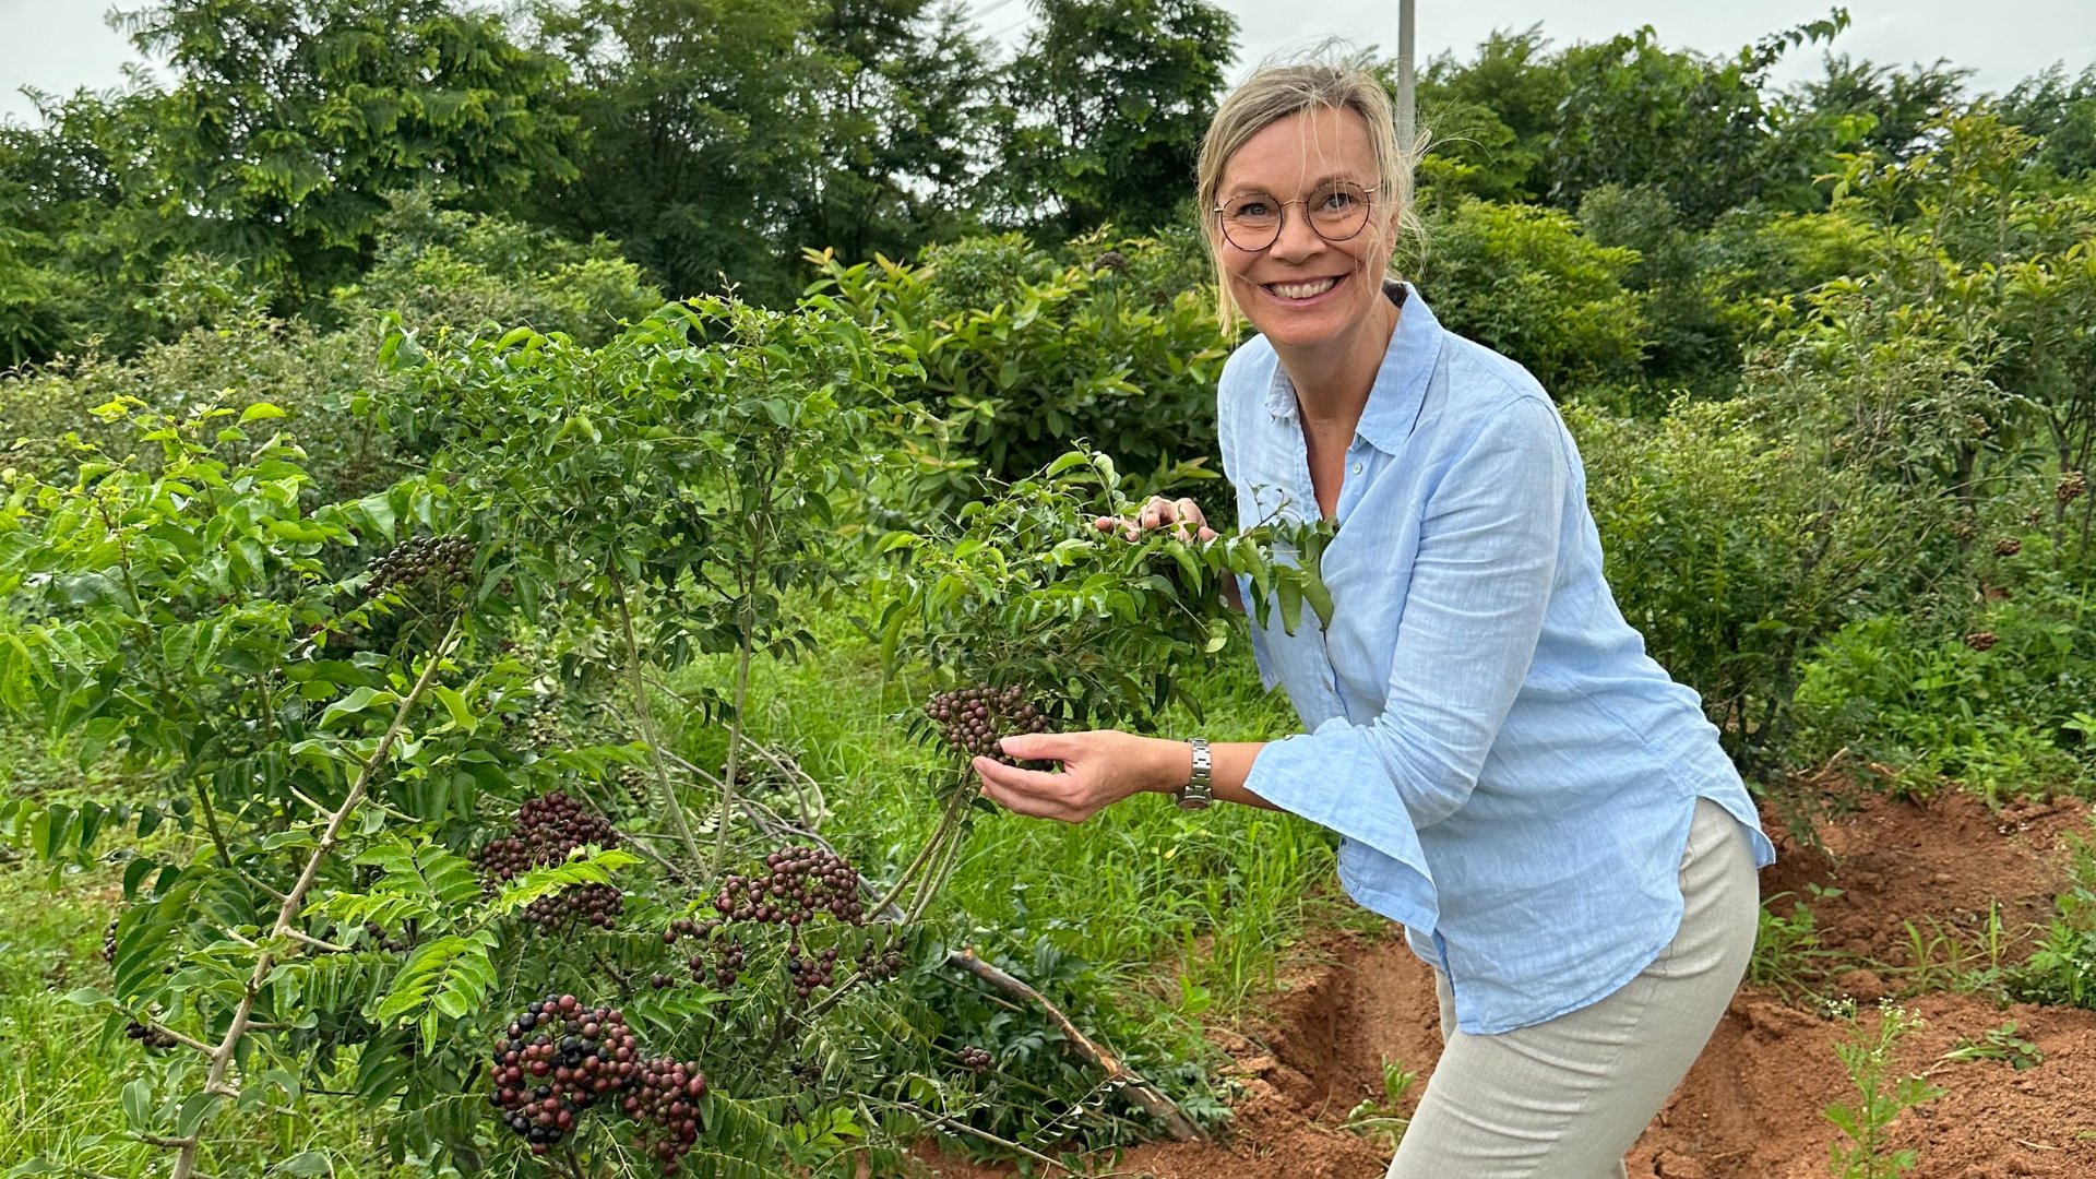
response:
[[[1815,917],[1821,992],[1863,1001],[1857,1024],[1876,1026],[1880,992],[1949,982],[1972,952],[1989,906],[2010,934],[2044,921],[2065,885],[2065,835],[2088,833],[2086,803],[2025,803],[2002,814],[1943,795],[1926,806],[1865,797],[1817,824],[1826,854],[1782,848],[1763,894],[1792,894]],[[1769,824],[1771,831],[1777,824]],[[1815,896],[1807,885],[1819,885]],[[1826,892],[1838,889],[1838,896]],[[1784,904],[1773,906],[1784,910]],[[1924,934],[1920,946],[1907,923]],[[1964,950],[1958,950],[1964,946]],[[1922,963],[1916,963],[1920,948]],[[1258,1028],[1218,1032],[1235,1059],[1237,1120],[1228,1145],[1151,1143],[1128,1152],[1117,1175],[1153,1179],[1375,1179],[1388,1152],[1344,1129],[1362,1099],[1381,1097],[1383,1059],[1421,1076],[1440,1055],[1434,984],[1400,940],[1327,940],[1331,961],[1287,980]],[[2008,961],[2027,944],[2010,942]],[[1832,982],[1828,982],[1832,980]],[[1631,1175],[1658,1179],[1824,1179],[1834,1127],[1830,1101],[1855,1099],[1834,1045],[1847,1020],[1821,999],[1746,988],[1710,1047],[1631,1152]],[[1905,1114],[1888,1150],[1912,1148],[1914,1179],[2083,1179],[2096,1175],[2096,1011],[2016,1005],[1947,990],[1909,994],[1924,1026],[1899,1066],[1928,1072],[1943,1097]],[[2037,1064],[1945,1062],[2014,1022]],[[2027,1062],[2025,1062],[2027,1064]],[[1406,1095],[1417,1103],[1421,1085]],[[1409,1108],[1402,1112],[1411,1112]],[[1004,1175],[926,1152],[933,1175]]]

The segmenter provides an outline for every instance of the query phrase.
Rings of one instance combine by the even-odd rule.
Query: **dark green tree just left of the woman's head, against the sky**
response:
[[[991,203],[1065,235],[1180,218],[1237,19],[1205,0],[1035,0],[1035,13],[1004,78]]]

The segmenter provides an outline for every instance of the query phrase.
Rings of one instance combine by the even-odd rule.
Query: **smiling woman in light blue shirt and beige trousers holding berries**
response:
[[[1082,822],[1140,791],[1339,833],[1339,881],[1434,967],[1446,1051],[1392,1179],[1620,1179],[1710,1038],[1773,860],[1696,692],[1601,577],[1578,449],[1518,363],[1388,260],[1411,199],[1383,86],[1256,73],[1203,143],[1239,524],[1337,524],[1325,627],[1251,631],[1306,726],[1272,743],[1008,736],[983,793]],[[1102,531],[1207,537],[1186,501]],[[1239,585],[1247,594],[1249,583]]]

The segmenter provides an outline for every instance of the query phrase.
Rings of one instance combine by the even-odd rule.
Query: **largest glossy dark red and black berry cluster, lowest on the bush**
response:
[[[641,1070],[639,1041],[610,1007],[547,994],[509,1024],[488,1062],[488,1103],[505,1127],[545,1154],[599,1099],[627,1093]]]

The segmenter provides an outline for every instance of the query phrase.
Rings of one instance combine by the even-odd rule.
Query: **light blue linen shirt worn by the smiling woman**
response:
[[[1253,623],[1262,678],[1310,732],[1268,743],[1245,787],[1339,833],[1346,892],[1448,976],[1457,1028],[1490,1034],[1658,957],[1698,797],[1746,827],[1756,866],[1775,848],[1700,699],[1616,608],[1557,407],[1415,290],[1400,306],[1320,562],[1331,627]],[[1224,367],[1218,426],[1239,527],[1318,518],[1264,336]]]

